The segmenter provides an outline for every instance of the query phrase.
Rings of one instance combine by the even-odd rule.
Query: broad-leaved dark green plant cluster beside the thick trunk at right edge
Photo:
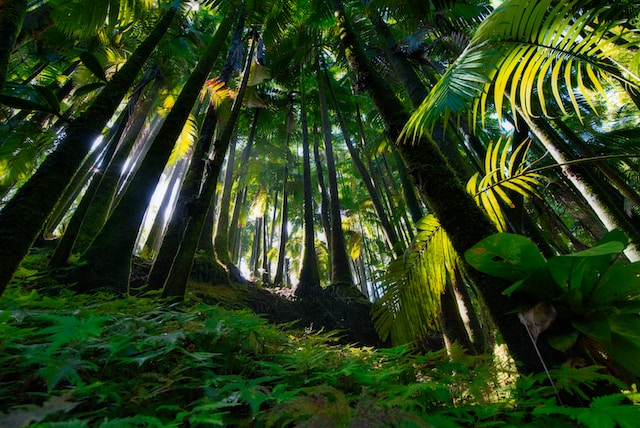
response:
[[[637,378],[640,263],[616,257],[627,244],[623,233],[613,231],[592,248],[545,260],[527,238],[499,233],[469,249],[465,258],[482,272],[514,281],[504,294],[524,297],[532,306],[553,305],[557,319],[548,333],[553,348],[586,347],[593,362],[613,360]]]

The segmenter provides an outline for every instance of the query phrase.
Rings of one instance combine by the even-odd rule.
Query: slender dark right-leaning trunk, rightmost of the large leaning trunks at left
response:
[[[216,138],[216,141],[213,144],[213,158],[210,163],[210,173],[202,184],[202,189],[197,201],[197,206],[201,209],[194,212],[193,217],[187,226],[187,230],[184,234],[185,239],[183,239],[182,245],[180,245],[180,250],[176,255],[176,259],[171,267],[171,272],[167,278],[167,285],[163,293],[163,296],[165,297],[172,296],[178,299],[184,298],[187,281],[191,274],[193,259],[198,248],[198,240],[202,234],[204,221],[208,210],[213,209],[213,198],[215,195],[220,168],[224,161],[225,154],[229,151],[231,139],[234,138],[238,117],[240,116],[240,107],[242,107],[242,99],[244,98],[244,94],[247,89],[247,82],[249,81],[249,69],[253,58],[253,52],[255,51],[255,44],[256,42],[253,40],[245,61],[240,87],[238,88],[236,99],[233,101],[233,105],[231,106],[229,118],[221,135]],[[231,156],[231,154],[229,154],[229,156]],[[235,281],[244,282],[244,279],[237,268],[236,271],[229,272],[229,276]]]

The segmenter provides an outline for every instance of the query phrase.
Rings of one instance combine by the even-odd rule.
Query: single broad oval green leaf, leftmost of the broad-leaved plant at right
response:
[[[517,281],[545,266],[545,259],[529,239],[513,233],[490,235],[467,250],[467,262],[481,272]]]

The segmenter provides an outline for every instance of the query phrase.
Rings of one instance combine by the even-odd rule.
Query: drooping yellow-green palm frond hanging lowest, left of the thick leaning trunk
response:
[[[383,340],[401,344],[425,337],[438,325],[440,295],[459,264],[449,237],[433,215],[417,224],[404,256],[391,262],[382,278],[382,297],[372,317]]]

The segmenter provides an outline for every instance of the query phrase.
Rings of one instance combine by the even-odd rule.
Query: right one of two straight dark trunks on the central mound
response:
[[[324,73],[320,64],[316,61],[316,81],[318,82],[318,96],[320,101],[320,116],[322,118],[322,134],[324,136],[324,151],[327,162],[327,176],[329,179],[329,207],[331,220],[331,285],[353,286],[353,274],[351,263],[347,255],[347,247],[342,230],[342,215],[340,213],[340,195],[338,193],[338,177],[336,173],[335,159],[331,138],[331,123],[329,122],[329,110],[327,109],[327,96],[325,94]]]

